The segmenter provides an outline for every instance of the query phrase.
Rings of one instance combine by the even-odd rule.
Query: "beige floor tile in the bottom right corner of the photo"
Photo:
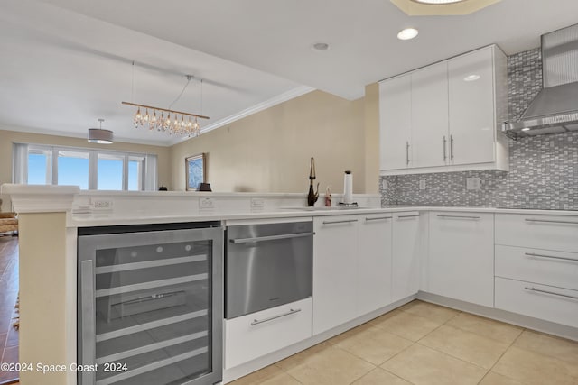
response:
[[[578,384],[578,366],[512,346],[492,371],[527,384]]]

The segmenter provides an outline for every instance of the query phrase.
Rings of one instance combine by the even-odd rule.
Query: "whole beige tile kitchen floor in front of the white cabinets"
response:
[[[578,343],[415,300],[233,385],[577,385]]]

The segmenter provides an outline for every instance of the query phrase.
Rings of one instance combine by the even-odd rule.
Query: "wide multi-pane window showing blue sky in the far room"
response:
[[[156,155],[14,143],[14,183],[156,190]]]

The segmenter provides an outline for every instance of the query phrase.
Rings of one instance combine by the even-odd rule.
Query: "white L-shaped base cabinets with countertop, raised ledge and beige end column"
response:
[[[578,292],[572,264],[578,255],[576,212],[381,208],[378,195],[354,195],[357,209],[308,209],[303,194],[111,193],[21,185],[3,185],[2,192],[11,197],[21,224],[21,362],[77,361],[79,229],[207,221],[222,226],[311,221],[315,233],[312,298],[298,301],[294,316],[259,329],[264,335],[267,328],[284,333],[292,322],[303,322],[300,317],[310,317],[303,323],[310,327],[307,337],[272,347],[264,335],[240,333],[224,320],[224,382],[414,298],[578,340],[578,306],[567,300]],[[537,254],[570,261],[562,265]],[[440,268],[449,265],[454,269]],[[249,321],[277,310],[284,314],[275,307]],[[238,341],[250,343],[246,356],[235,353],[231,344]],[[71,385],[76,374],[22,372],[21,381]]]

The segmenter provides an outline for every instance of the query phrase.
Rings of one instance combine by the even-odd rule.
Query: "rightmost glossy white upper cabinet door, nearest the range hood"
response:
[[[448,60],[450,160],[452,164],[494,160],[492,47]]]

